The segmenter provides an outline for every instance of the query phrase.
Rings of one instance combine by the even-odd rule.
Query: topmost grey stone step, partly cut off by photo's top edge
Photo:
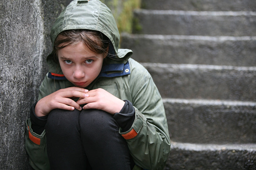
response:
[[[142,0],[141,8],[182,11],[256,11],[255,0]]]

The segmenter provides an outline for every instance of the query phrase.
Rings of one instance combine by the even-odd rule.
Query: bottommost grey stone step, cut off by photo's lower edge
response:
[[[164,169],[256,169],[256,144],[215,145],[172,142]]]

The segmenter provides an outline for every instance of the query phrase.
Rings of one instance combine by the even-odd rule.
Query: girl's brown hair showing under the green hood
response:
[[[99,31],[93,30],[66,30],[61,32],[55,42],[54,51],[83,42],[90,50],[97,54],[108,53],[110,40]]]

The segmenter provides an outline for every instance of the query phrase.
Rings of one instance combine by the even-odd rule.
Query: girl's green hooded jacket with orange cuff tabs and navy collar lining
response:
[[[120,134],[126,139],[134,159],[134,169],[163,169],[170,151],[170,139],[161,96],[147,70],[130,58],[132,51],[118,49],[120,35],[109,8],[98,0],[72,1],[57,18],[51,29],[51,41],[64,30],[89,29],[100,31],[110,40],[109,55],[100,75],[87,87],[102,88],[135,108],[132,127]],[[41,98],[62,88],[74,86],[65,79],[54,51],[47,57],[49,73],[39,87]],[[46,151],[45,130],[36,134],[31,121],[26,121],[26,150],[34,169],[50,169]]]

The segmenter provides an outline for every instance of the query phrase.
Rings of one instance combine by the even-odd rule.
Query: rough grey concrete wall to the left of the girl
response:
[[[70,1],[0,1],[0,169],[28,169],[25,120],[50,52],[49,32]]]

